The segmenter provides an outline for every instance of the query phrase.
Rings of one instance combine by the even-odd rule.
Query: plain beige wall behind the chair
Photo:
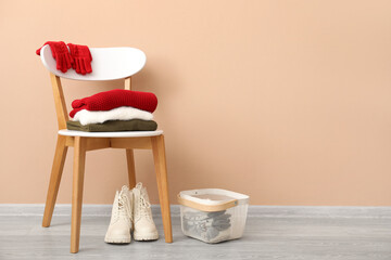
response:
[[[391,2],[0,2],[0,203],[43,203],[55,144],[47,40],[130,46],[159,96],[169,191],[223,187],[258,205],[391,206]],[[64,81],[66,101],[121,82]],[[72,150],[59,203],[71,202]],[[152,156],[138,180],[156,203]],[[85,203],[126,183],[123,151],[87,156]]]

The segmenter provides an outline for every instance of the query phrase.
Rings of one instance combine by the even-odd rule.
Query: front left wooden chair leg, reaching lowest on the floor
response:
[[[86,138],[76,136],[72,191],[71,252],[78,252],[81,224],[83,184],[86,161]]]

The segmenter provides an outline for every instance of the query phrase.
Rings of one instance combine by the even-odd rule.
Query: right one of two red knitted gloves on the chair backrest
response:
[[[87,46],[78,44],[67,44],[70,47],[71,55],[74,58],[72,67],[76,70],[77,74],[86,75],[92,73],[91,68],[91,52]]]

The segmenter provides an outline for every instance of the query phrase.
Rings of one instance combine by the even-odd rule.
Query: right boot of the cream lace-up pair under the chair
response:
[[[147,188],[139,182],[133,190],[134,195],[134,238],[135,240],[155,240],[159,238],[156,226],[152,219],[151,204]]]

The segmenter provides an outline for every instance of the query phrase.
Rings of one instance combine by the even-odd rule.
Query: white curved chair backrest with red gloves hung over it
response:
[[[62,73],[56,69],[55,60],[49,46],[40,51],[43,66],[55,76],[76,80],[113,80],[128,78],[137,74],[146,64],[146,54],[136,48],[90,48],[92,73],[76,74],[74,69]]]

